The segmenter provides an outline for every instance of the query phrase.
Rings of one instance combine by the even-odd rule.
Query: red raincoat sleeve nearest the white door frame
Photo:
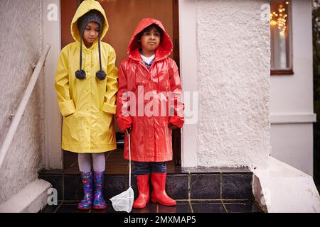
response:
[[[178,128],[181,128],[184,123],[184,104],[181,101],[182,98],[182,89],[181,89],[181,82],[178,72],[178,67],[176,66],[176,62],[171,60],[169,72],[169,80],[170,80],[170,116],[169,116],[169,123]]]

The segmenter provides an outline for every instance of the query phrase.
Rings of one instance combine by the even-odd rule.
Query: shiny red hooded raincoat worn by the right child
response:
[[[164,34],[159,48],[156,49],[154,62],[148,70],[139,54],[136,36],[153,23],[158,25]],[[131,156],[134,161],[172,160],[172,131],[168,124],[181,128],[184,123],[178,67],[176,62],[168,57],[172,50],[171,39],[162,23],[152,18],[144,18],[130,40],[127,48],[129,57],[121,62],[116,117],[122,131],[132,127]],[[124,159],[129,159],[127,134],[124,139]]]

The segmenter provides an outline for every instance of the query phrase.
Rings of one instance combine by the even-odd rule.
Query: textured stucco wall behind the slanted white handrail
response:
[[[40,0],[0,1],[0,142],[4,140],[42,49]],[[0,169],[0,203],[37,179],[43,149],[43,75],[40,75]]]

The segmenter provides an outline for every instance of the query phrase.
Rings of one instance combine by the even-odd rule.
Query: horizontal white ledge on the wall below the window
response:
[[[314,113],[277,113],[270,115],[271,124],[314,123]]]

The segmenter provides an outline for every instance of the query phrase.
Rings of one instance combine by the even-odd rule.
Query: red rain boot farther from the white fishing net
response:
[[[166,194],[166,172],[152,172],[151,173],[151,202],[162,204],[164,206],[176,206],[176,200],[171,199]]]

